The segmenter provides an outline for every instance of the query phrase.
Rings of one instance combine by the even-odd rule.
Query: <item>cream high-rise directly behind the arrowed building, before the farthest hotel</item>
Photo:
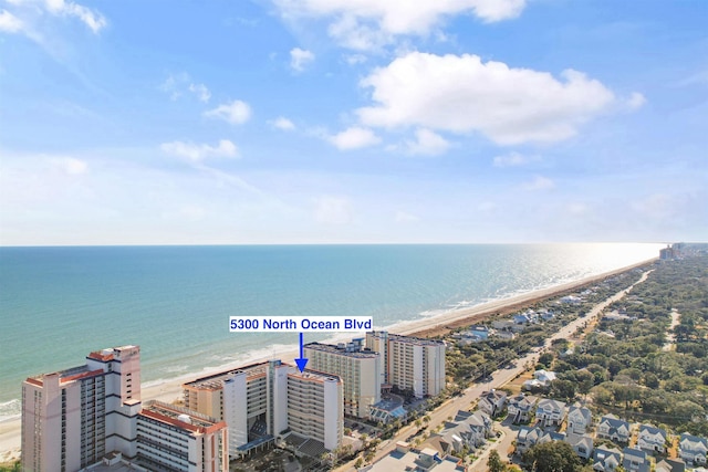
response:
[[[344,415],[368,418],[371,407],[381,401],[379,354],[364,349],[362,339],[336,346],[310,343],[303,352],[310,368],[344,381]]]

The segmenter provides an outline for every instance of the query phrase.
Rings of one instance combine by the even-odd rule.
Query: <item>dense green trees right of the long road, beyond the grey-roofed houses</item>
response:
[[[590,394],[598,415],[708,436],[708,258],[663,262],[608,312],[620,316],[572,354],[545,358],[558,374],[549,396]]]

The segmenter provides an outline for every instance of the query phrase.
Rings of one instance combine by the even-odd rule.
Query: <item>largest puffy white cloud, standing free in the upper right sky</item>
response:
[[[581,72],[561,75],[563,81],[476,55],[412,52],[361,82],[375,103],[356,113],[367,126],[480,132],[501,145],[553,143],[576,134],[615,101]]]

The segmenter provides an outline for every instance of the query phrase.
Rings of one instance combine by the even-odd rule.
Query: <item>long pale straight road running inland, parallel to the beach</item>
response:
[[[520,375],[523,371],[523,366],[527,363],[530,363],[530,365],[535,365],[539,359],[540,353],[542,353],[543,349],[549,348],[551,346],[551,343],[553,343],[553,340],[568,339],[571,336],[571,334],[573,334],[580,326],[582,326],[583,323],[587,322],[589,319],[592,319],[595,316],[598,316],[608,305],[624,297],[627,293],[629,293],[629,291],[632,291],[632,289],[635,285],[644,282],[650,272],[652,271],[647,271],[644,274],[642,274],[642,277],[637,282],[635,282],[633,285],[631,285],[628,289],[617,292],[616,294],[612,295],[604,302],[601,302],[595,306],[593,306],[593,308],[587,313],[586,316],[574,319],[573,322],[562,327],[561,331],[559,331],[553,336],[545,339],[543,347],[537,347],[531,353],[516,360],[514,363],[516,366],[513,368],[496,370],[491,375],[492,380],[490,382],[473,385],[468,389],[466,389],[461,396],[458,396],[456,398],[451,398],[445,401],[433,412],[428,413],[428,416],[430,417],[430,422],[428,423],[428,430],[433,431],[437,426],[441,424],[449,417],[455,417],[455,413],[457,413],[458,410],[467,410],[470,403],[477,400],[483,391],[489,390],[491,388],[502,387],[503,385],[513,380],[517,375]],[[386,441],[385,443],[382,443],[378,451],[376,451],[376,455],[374,457],[374,462],[381,460],[384,455],[388,454],[394,449],[396,449],[396,442],[404,441],[405,438],[408,438],[410,434],[414,434],[417,430],[418,428],[413,423],[400,429],[393,439],[391,439],[389,441]],[[494,444],[498,447],[499,443],[500,441],[492,443],[491,449],[493,449]],[[490,449],[490,448],[487,448],[487,449]],[[502,457],[502,460],[503,460],[507,455],[506,451],[500,451],[500,455]],[[478,461],[476,462],[479,462],[479,461],[480,460],[478,459]],[[354,469],[353,462],[350,462],[336,469],[336,471],[339,472],[351,472],[355,470],[356,469]]]

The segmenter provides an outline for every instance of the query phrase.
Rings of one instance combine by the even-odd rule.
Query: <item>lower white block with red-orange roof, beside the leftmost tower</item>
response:
[[[148,470],[228,472],[226,422],[162,401],[137,417],[137,462]]]

